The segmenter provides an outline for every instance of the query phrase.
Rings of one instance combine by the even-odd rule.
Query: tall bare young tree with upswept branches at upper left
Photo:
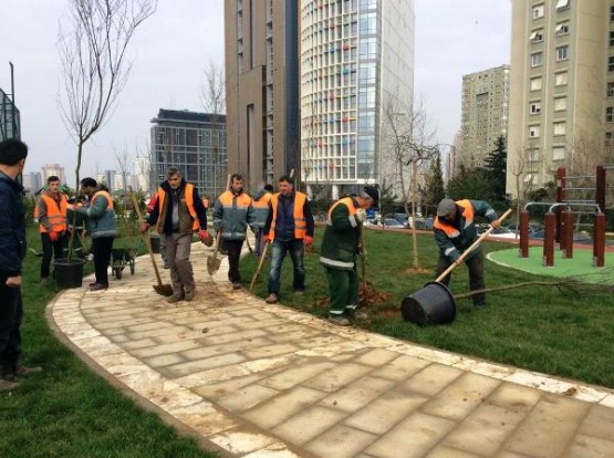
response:
[[[60,28],[63,91],[60,108],[77,147],[76,184],[83,145],[108,121],[132,66],[127,49],[157,0],[70,0],[70,29]]]

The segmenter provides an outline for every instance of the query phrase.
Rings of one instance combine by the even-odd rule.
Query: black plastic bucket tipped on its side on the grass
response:
[[[403,319],[419,326],[451,323],[456,316],[456,303],[448,288],[429,281],[422,290],[408,295],[400,303]]]

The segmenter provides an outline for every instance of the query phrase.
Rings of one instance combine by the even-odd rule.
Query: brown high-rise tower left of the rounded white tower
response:
[[[226,0],[228,169],[248,188],[300,173],[298,0]]]

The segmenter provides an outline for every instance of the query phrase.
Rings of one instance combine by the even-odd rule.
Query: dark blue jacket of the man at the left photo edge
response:
[[[21,275],[25,257],[23,187],[0,171],[0,275]]]

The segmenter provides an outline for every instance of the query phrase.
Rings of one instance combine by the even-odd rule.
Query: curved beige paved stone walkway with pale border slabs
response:
[[[226,262],[209,275],[207,250],[192,249],[192,302],[156,295],[145,257],[107,291],[66,290],[48,308],[84,361],[206,448],[250,458],[614,457],[613,391],[267,305],[230,289]]]

